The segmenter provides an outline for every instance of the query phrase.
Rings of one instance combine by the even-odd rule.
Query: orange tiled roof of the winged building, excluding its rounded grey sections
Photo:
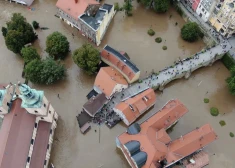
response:
[[[138,134],[121,134],[117,138],[120,142],[118,146],[122,149],[130,165],[136,168],[133,159],[131,159],[133,156],[127,155],[128,152],[123,147],[130,141],[140,142],[140,151],[147,153],[147,160],[142,168],[155,168],[156,163],[164,159],[167,160],[168,166],[173,161],[180,160],[214,141],[216,134],[207,124],[170,142],[171,139],[165,129],[187,112],[187,108],[179,100],[171,100],[162,110],[140,125],[141,130]]]

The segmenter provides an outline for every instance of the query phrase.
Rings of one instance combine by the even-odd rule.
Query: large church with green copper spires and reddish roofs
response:
[[[47,168],[58,115],[43,91],[0,86],[0,168]]]

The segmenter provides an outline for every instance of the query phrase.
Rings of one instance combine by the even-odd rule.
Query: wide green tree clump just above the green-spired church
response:
[[[25,77],[37,84],[53,84],[65,77],[63,65],[48,57],[45,60],[34,59],[25,67]]]

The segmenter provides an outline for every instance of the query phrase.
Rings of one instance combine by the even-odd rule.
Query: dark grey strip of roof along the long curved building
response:
[[[113,55],[115,55],[116,57],[118,57],[122,62],[124,62],[129,68],[131,68],[135,73],[139,72],[140,70],[136,67],[136,65],[131,62],[129,59],[127,59],[125,56],[123,56],[120,52],[116,51],[115,49],[113,49],[112,47],[106,45],[104,47],[104,49],[106,51],[108,51],[109,53],[112,53]]]

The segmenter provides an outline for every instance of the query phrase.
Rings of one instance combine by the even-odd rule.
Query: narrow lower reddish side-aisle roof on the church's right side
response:
[[[34,142],[30,168],[43,168],[46,159],[47,145],[49,143],[51,123],[40,121],[37,136]],[[49,162],[49,160],[47,160]]]

